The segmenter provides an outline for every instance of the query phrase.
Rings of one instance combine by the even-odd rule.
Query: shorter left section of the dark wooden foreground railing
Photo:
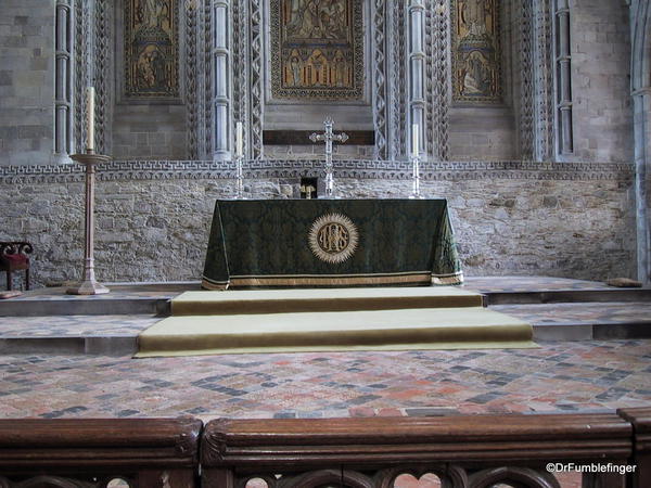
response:
[[[186,418],[0,420],[0,487],[191,488],[201,428]]]

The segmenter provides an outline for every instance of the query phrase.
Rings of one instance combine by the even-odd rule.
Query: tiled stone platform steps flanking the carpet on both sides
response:
[[[111,293],[41,288],[0,300],[0,351],[130,355],[138,335],[169,316],[171,298],[200,282],[108,284]],[[651,288],[548,277],[467,278],[492,310],[531,323],[534,341],[651,337]],[[229,292],[224,292],[229,293]]]

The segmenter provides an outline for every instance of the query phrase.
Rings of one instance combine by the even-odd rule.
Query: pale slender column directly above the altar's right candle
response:
[[[411,0],[409,5],[409,144],[413,141],[411,133],[413,125],[418,125],[419,146],[418,152],[425,147],[423,143],[425,97],[424,97],[424,34],[425,34],[425,8],[421,0]],[[409,154],[413,153],[413,147]]]

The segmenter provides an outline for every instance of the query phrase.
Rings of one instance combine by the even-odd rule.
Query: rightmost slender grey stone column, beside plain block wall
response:
[[[570,5],[567,0],[556,0],[556,68],[557,68],[557,139],[558,154],[574,152],[572,129],[572,51],[570,46]]]

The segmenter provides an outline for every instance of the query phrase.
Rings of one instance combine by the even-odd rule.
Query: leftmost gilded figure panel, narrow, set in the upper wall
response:
[[[126,97],[179,97],[177,23],[178,0],[126,0]]]

